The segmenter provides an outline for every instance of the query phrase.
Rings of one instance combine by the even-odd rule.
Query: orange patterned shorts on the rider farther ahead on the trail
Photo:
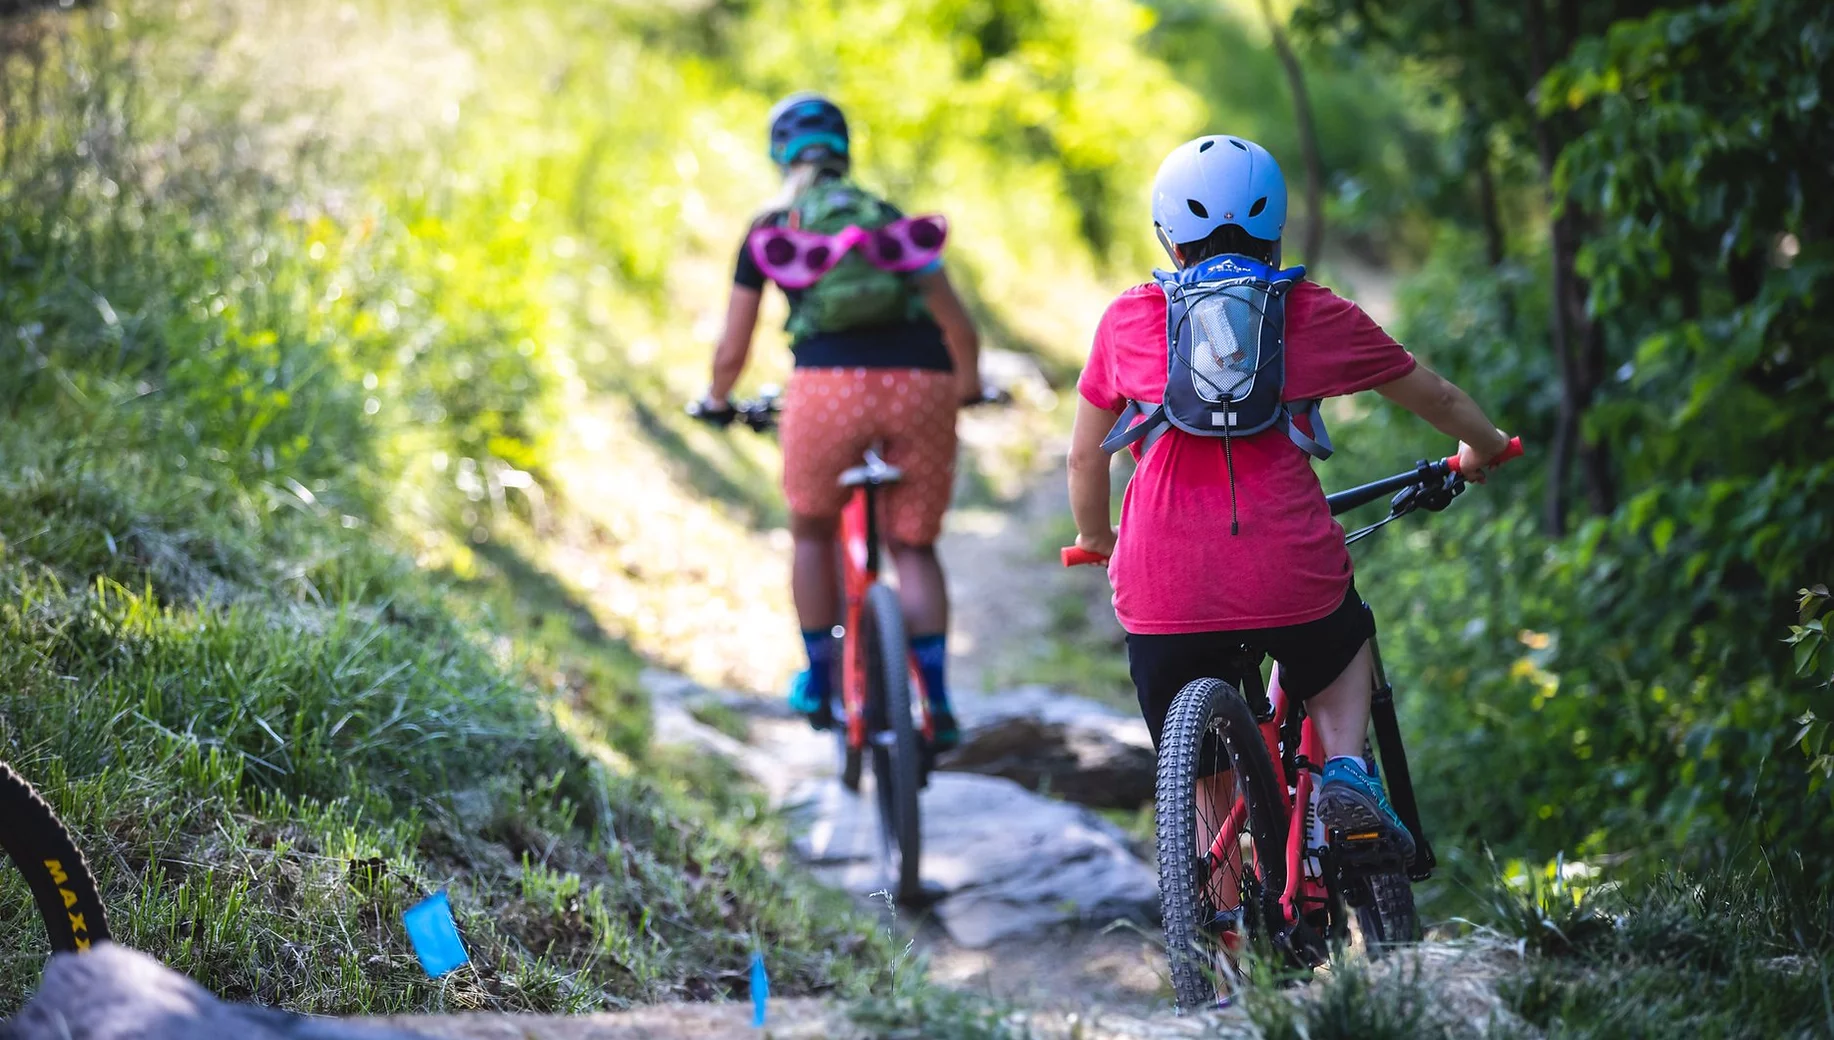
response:
[[[796,369],[783,393],[783,497],[805,517],[838,517],[840,475],[867,448],[904,471],[880,519],[904,545],[932,545],[956,482],[956,376],[928,369]]]

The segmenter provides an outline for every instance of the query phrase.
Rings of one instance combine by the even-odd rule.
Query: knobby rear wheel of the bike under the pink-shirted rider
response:
[[[1242,800],[1240,849],[1221,860],[1210,846],[1231,816],[1229,805],[1201,807],[1199,783],[1232,770]],[[1275,780],[1267,745],[1254,712],[1234,686],[1199,679],[1172,701],[1159,739],[1157,781],[1159,910],[1165,919],[1172,992],[1185,1011],[1227,1001],[1238,979],[1227,937],[1218,932],[1218,884],[1240,888],[1245,937],[1273,935],[1284,924],[1286,791]],[[1207,811],[1205,811],[1207,809]],[[1212,882],[1218,869],[1240,857],[1240,877]],[[1229,895],[1234,895],[1232,891]]]

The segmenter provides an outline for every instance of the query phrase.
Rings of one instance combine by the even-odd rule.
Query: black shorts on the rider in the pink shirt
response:
[[[1260,660],[1267,655],[1280,664],[1280,688],[1287,697],[1308,701],[1344,673],[1363,644],[1376,635],[1376,620],[1363,607],[1355,583],[1344,592],[1335,611],[1300,625],[1276,629],[1238,629],[1227,633],[1128,635],[1128,671],[1133,675],[1133,693],[1141,715],[1159,747],[1165,715],[1172,710],[1177,691],[1198,679],[1227,679],[1242,657],[1242,649]],[[1203,754],[1199,761],[1218,761]],[[1203,770],[1201,772],[1216,772]]]

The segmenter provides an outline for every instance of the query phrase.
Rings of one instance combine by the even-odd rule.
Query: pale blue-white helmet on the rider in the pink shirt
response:
[[[1286,227],[1280,163],[1267,149],[1229,134],[1185,141],[1154,176],[1152,224],[1174,262],[1174,246],[1203,240],[1223,224],[1278,240]]]

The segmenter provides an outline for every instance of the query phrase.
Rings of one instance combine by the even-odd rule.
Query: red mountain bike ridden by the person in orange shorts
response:
[[[1003,404],[1003,391],[990,391],[976,404]],[[763,394],[754,402],[734,402],[728,413],[690,407],[706,422],[741,422],[759,433],[776,429],[779,400]],[[860,789],[867,752],[873,761],[873,792],[878,803],[882,851],[891,864],[897,895],[919,902],[923,884],[923,829],[917,792],[928,781],[930,741],[935,723],[923,671],[910,653],[904,635],[904,609],[899,594],[878,578],[880,534],[878,493],[904,477],[867,449],[860,464],[840,475],[853,490],[840,514],[840,572],[845,611],[842,614],[840,695],[834,739],[840,752],[840,781]]]

